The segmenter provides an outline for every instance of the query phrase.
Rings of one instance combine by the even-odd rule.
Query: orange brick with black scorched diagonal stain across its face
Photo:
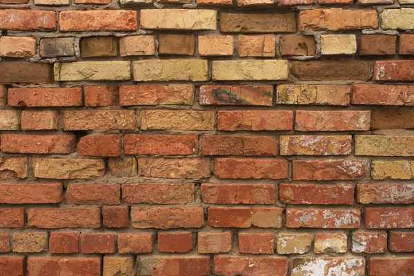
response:
[[[201,106],[272,106],[273,86],[200,86]]]

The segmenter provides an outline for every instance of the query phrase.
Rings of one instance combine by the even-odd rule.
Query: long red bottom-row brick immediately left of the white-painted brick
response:
[[[281,257],[214,256],[213,273],[217,275],[271,275],[288,274],[288,259]]]

